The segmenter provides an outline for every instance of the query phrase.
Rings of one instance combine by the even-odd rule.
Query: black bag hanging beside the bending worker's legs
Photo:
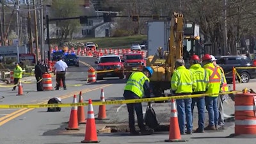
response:
[[[148,102],[144,121],[145,121],[145,124],[151,129],[156,129],[156,127],[158,127],[158,125],[160,124],[157,120],[156,113],[152,108],[151,102]]]

